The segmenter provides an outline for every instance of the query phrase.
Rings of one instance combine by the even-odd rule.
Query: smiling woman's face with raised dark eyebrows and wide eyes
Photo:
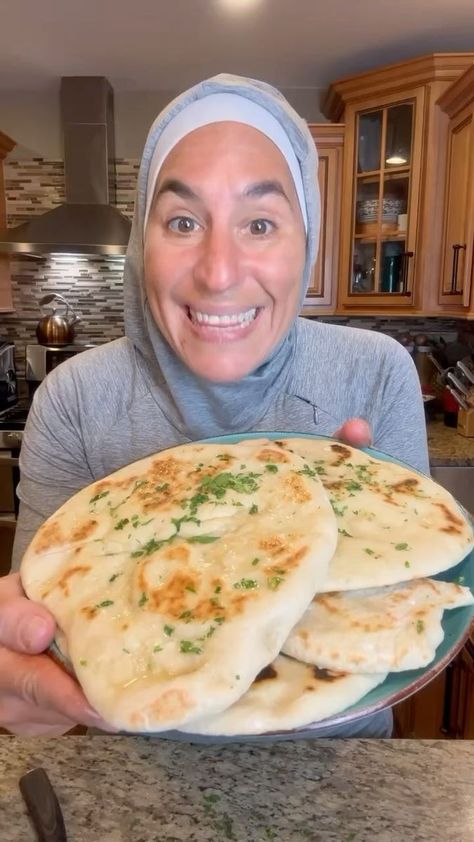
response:
[[[145,232],[153,318],[195,374],[240,380],[298,310],[305,231],[288,165],[261,132],[214,123],[159,173]]]

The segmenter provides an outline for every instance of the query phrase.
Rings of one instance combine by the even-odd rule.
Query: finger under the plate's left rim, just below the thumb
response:
[[[33,710],[37,709],[59,714],[73,724],[113,730],[90,706],[77,681],[47,655],[19,655],[3,649],[0,676],[0,699],[3,690],[6,696],[26,702],[32,708],[33,720]]]

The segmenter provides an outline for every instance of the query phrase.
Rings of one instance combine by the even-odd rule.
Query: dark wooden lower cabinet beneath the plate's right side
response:
[[[474,739],[474,629],[444,672],[394,707],[394,719],[400,738]]]

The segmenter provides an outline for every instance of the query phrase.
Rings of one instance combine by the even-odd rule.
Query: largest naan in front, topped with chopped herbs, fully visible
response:
[[[104,720],[158,732],[248,689],[336,543],[327,495],[299,456],[265,440],[188,444],[72,497],[33,539],[21,579]]]

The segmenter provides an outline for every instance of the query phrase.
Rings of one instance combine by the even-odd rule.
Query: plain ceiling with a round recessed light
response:
[[[0,90],[104,75],[176,90],[219,72],[282,88],[428,52],[474,51],[473,0],[2,0]],[[244,8],[245,7],[245,8]]]

